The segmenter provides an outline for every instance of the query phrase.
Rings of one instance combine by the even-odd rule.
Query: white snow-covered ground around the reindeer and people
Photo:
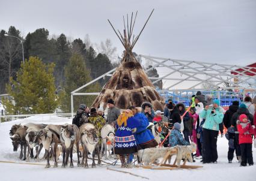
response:
[[[1,180],[146,180],[141,177],[132,176],[130,174],[119,173],[117,171],[107,170],[107,165],[97,168],[61,168],[61,159],[58,168],[44,168],[45,161],[40,161],[42,165],[27,165],[4,163],[1,161],[10,161],[16,163],[26,163],[19,160],[19,151],[13,152],[9,130],[15,123],[71,123],[71,119],[57,116],[32,116],[25,119],[14,120],[0,124],[0,171]],[[148,170],[144,168],[120,168],[117,166],[108,166],[116,170],[129,171],[140,176],[148,177],[150,180],[256,180],[256,164],[252,167],[239,167],[236,159],[232,164],[228,164],[227,160],[228,141],[223,137],[218,138],[218,164],[201,164],[198,160],[192,165],[203,165],[203,168],[195,170],[175,169],[175,170]],[[43,153],[41,153],[43,155]],[[74,154],[74,159],[77,157]],[[256,149],[253,148],[254,161],[256,161]],[[106,160],[110,162],[109,160]],[[31,160],[31,163],[35,163]],[[53,162],[50,162],[53,165]],[[76,162],[74,162],[76,165]]]

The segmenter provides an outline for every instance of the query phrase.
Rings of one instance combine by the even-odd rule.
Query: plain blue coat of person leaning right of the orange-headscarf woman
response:
[[[136,127],[135,139],[138,144],[147,143],[154,139],[152,132],[147,129],[149,125],[147,117],[142,113],[136,113],[135,119],[139,120],[139,126]]]

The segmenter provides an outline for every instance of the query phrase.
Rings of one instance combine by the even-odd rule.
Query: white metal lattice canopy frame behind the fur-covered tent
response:
[[[139,55],[138,61],[142,64],[149,61],[152,67],[145,70],[147,73],[153,68],[157,69],[159,77],[148,77],[152,83],[165,80],[164,89],[161,92],[170,90],[205,90],[205,89],[251,89],[256,88],[256,73],[254,67],[243,67],[239,65],[214,64],[209,62],[184,61],[154,56]],[[84,86],[71,92],[71,111],[73,117],[73,96],[74,95],[99,95],[100,92],[78,92],[91,85],[97,80],[106,76],[111,77],[116,68],[108,71],[97,79],[88,82]],[[240,69],[242,71],[237,71]],[[236,74],[233,74],[236,73]],[[249,76],[251,73],[253,76]],[[203,85],[203,87],[202,87]],[[228,85],[228,87],[227,87]],[[200,87],[201,86],[201,87]],[[206,88],[207,87],[207,88]]]

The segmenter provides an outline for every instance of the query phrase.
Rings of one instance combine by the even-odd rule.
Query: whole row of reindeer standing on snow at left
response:
[[[87,158],[88,152],[93,153],[92,167],[96,167],[94,158],[97,153],[98,162],[100,164],[99,137],[97,129],[91,123],[86,123],[80,128],[76,125],[46,125],[37,123],[26,123],[25,125],[13,125],[10,130],[10,138],[13,143],[13,151],[16,152],[20,146],[20,159],[29,161],[29,153],[31,158],[39,161],[41,149],[45,149],[44,158],[47,159],[45,168],[50,167],[49,158],[52,155],[54,160],[53,167],[58,167],[59,147],[62,148],[62,168],[68,166],[70,157],[70,167],[73,166],[73,149],[75,146],[78,155],[78,167],[88,168]],[[102,135],[102,152],[112,149],[114,144],[114,127],[111,125],[103,126]],[[108,144],[107,144],[108,143]],[[82,151],[79,150],[79,144]],[[33,155],[35,147],[36,156]],[[80,155],[82,161],[80,162]]]

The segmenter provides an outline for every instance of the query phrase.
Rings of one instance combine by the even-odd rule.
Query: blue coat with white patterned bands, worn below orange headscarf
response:
[[[139,124],[139,120],[135,119],[135,117],[129,117],[126,126],[124,126],[124,123],[121,126],[117,125],[117,132],[115,132],[115,154],[130,154],[138,151],[132,129],[138,127]]]

